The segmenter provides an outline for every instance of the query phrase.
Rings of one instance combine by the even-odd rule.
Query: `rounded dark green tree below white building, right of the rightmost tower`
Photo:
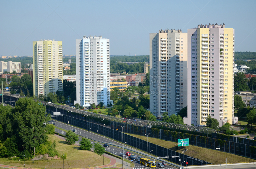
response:
[[[237,72],[235,76],[235,92],[246,90],[249,90],[249,87],[247,85],[247,79],[245,79],[245,74],[242,72]]]

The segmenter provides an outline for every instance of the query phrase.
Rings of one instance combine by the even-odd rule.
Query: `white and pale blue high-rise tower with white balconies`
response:
[[[84,36],[76,39],[76,101],[83,107],[103,102],[107,106],[109,92],[109,39]]]

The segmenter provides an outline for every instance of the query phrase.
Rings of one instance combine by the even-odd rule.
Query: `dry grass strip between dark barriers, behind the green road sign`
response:
[[[140,138],[142,140],[147,140],[147,136],[139,136],[139,135],[133,135],[133,134],[129,134],[129,135]],[[175,142],[165,141],[165,140],[151,138],[151,137],[148,137],[148,142],[156,144],[156,145],[160,145],[162,147],[171,149],[173,151],[176,151],[176,145],[174,145]],[[198,159],[201,159],[201,160],[213,163],[213,164],[218,163],[218,158],[217,158],[218,151],[217,150],[206,149],[206,148],[197,147],[197,146],[193,146],[193,145],[187,146],[186,149],[188,151],[186,151],[185,154],[188,156],[198,158]],[[183,150],[184,150],[184,147],[178,147],[179,153],[182,153]],[[219,163],[220,164],[224,164],[227,157],[228,157],[228,163],[256,161],[251,158],[245,158],[245,157],[237,156],[234,154],[219,151]]]

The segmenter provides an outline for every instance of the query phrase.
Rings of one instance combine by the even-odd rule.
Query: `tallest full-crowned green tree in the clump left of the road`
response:
[[[28,150],[34,149],[47,139],[46,125],[50,121],[50,115],[45,116],[45,106],[35,102],[32,98],[20,98],[12,109],[15,132],[18,133],[19,143]]]

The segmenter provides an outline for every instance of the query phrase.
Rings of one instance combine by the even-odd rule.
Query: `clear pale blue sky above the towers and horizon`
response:
[[[149,33],[225,23],[235,29],[235,51],[255,52],[256,1],[0,0],[0,55],[32,55],[32,41],[63,41],[75,55],[84,35],[110,39],[110,55],[148,55]]]

